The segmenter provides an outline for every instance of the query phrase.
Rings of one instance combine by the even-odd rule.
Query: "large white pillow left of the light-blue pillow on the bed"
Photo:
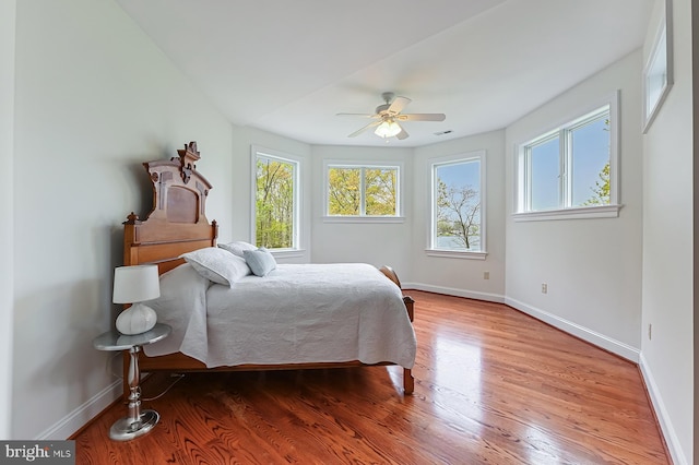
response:
[[[230,286],[242,276],[250,274],[250,267],[245,259],[233,255],[217,247],[206,247],[193,252],[182,253],[180,258],[190,263],[206,279],[226,286]]]

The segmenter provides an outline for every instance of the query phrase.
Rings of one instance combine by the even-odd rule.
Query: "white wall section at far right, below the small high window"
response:
[[[673,0],[675,84],[643,140],[644,378],[673,458],[692,463],[691,1]],[[657,14],[654,15],[657,19]],[[649,27],[644,57],[655,34]],[[695,78],[696,79],[696,78]],[[653,325],[652,338],[647,327]]]

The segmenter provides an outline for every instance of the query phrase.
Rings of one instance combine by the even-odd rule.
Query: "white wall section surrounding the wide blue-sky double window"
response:
[[[507,302],[624,357],[641,335],[641,52],[636,51],[507,128]],[[514,148],[620,90],[618,218],[517,223]],[[542,294],[542,284],[548,294]]]

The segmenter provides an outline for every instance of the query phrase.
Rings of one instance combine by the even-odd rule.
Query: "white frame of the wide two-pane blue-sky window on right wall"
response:
[[[572,163],[572,155],[569,153],[570,131],[595,119],[595,116],[607,106],[609,111],[609,204],[571,206],[572,176],[568,176],[569,165]],[[562,123],[555,124],[552,129],[538,131],[536,135],[516,144],[514,212],[511,215],[516,222],[618,217],[623,206],[619,190],[619,91],[615,91],[608,97],[577,111],[576,115],[572,118],[567,118]],[[531,211],[528,210],[531,205],[531,180],[529,178],[531,160],[528,156],[528,148],[537,142],[552,138],[553,134],[557,134],[555,136],[559,138],[558,207]]]

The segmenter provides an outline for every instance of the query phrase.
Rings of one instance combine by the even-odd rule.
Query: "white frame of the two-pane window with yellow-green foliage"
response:
[[[330,215],[328,206],[330,202],[330,176],[331,168],[348,168],[348,169],[396,169],[395,177],[395,215]],[[403,163],[402,162],[355,162],[355,160],[323,160],[323,223],[403,223]],[[362,180],[364,186],[364,178]],[[364,198],[364,194],[363,194]],[[365,211],[366,205],[362,205]]]

